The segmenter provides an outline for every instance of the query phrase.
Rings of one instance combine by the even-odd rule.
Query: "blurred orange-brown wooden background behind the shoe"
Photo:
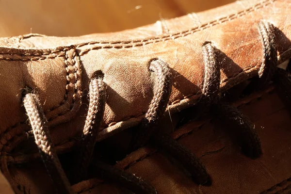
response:
[[[234,0],[0,0],[0,36],[115,32]]]

